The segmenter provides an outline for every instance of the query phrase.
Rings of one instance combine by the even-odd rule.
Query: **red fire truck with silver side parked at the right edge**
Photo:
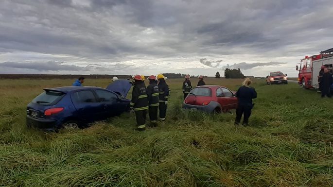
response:
[[[300,66],[296,66],[298,70],[298,84],[305,89],[319,88],[318,76],[322,66],[332,69],[333,65],[333,48],[321,51],[320,54],[313,56],[305,56],[300,60]]]

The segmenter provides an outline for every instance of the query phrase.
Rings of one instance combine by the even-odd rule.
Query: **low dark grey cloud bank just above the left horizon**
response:
[[[63,62],[2,62],[1,68],[34,69],[39,71],[88,71],[91,67],[65,65]]]

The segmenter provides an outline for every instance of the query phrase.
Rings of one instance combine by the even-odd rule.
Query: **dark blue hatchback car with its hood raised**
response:
[[[66,86],[44,89],[27,106],[27,126],[44,130],[82,128],[129,110],[131,84],[118,80],[107,88]]]

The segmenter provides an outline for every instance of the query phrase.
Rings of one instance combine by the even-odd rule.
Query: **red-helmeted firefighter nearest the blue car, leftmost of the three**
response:
[[[130,103],[131,111],[135,111],[138,131],[144,131],[146,129],[146,117],[148,110],[148,96],[147,88],[144,85],[142,77],[140,75],[134,76],[134,87],[132,91],[132,100]]]

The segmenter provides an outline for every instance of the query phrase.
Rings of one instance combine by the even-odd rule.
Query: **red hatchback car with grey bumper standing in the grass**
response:
[[[235,92],[220,85],[195,87],[183,102],[184,109],[202,110],[208,113],[227,112],[237,108]]]

